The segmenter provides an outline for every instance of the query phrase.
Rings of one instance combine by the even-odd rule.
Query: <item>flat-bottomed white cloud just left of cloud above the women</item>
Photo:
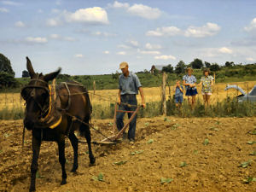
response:
[[[163,27],[156,28],[156,30],[154,31],[146,32],[146,35],[161,37],[161,36],[176,36],[181,33],[182,33],[181,29],[177,28],[176,26],[163,26]]]

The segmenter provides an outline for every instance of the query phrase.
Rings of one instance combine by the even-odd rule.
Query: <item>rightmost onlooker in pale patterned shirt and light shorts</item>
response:
[[[205,68],[203,71],[204,76],[201,77],[201,82],[199,84],[201,85],[201,95],[204,99],[205,108],[210,105],[210,97],[212,95],[213,78],[209,73],[210,70]]]

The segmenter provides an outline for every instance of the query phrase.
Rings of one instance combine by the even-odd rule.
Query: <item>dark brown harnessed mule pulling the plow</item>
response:
[[[80,134],[86,138],[90,164],[95,163],[95,158],[90,146],[90,98],[84,87],[76,82],[58,85],[55,93],[56,98],[60,102],[60,108],[55,108],[52,105],[55,101],[52,101],[53,97],[51,95],[53,90],[50,89],[49,81],[55,79],[61,72],[61,69],[46,75],[35,73],[32,63],[27,57],[26,68],[30,74],[31,81],[21,90],[21,96],[26,100],[24,125],[27,130],[32,130],[31,185],[29,191],[35,191],[38,155],[42,141],[55,141],[58,143],[59,162],[61,163],[62,170],[61,184],[67,183],[67,173],[65,170],[66,136],[70,139],[73,146],[73,168],[71,172],[76,172],[78,169],[78,139],[74,135],[74,131],[79,130]],[[51,118],[56,113],[61,114],[59,117],[57,115],[57,120],[56,117]],[[85,124],[75,119],[83,120]]]

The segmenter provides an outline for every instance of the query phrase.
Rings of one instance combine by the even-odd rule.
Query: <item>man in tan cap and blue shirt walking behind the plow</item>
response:
[[[119,69],[122,70],[122,74],[119,76],[119,110],[124,111],[135,111],[137,106],[137,94],[138,90],[140,95],[142,96],[143,108],[145,108],[145,100],[143,95],[143,88],[140,80],[137,78],[135,73],[132,73],[128,70],[128,63],[121,62],[119,65]],[[132,106],[129,106],[130,104]],[[128,118],[131,118],[132,113],[128,113]],[[123,118],[125,113],[119,112],[116,116],[117,127],[119,131],[124,127]],[[133,144],[135,141],[135,131],[136,131],[136,121],[137,115],[134,119],[131,120],[129,131],[128,131],[128,139],[130,143]]]

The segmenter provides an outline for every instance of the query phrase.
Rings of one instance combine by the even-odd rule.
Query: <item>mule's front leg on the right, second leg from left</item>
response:
[[[60,138],[57,141],[58,147],[59,147],[59,162],[61,163],[61,170],[62,170],[62,181],[61,184],[67,183],[67,173],[65,170],[65,136],[61,135]]]

